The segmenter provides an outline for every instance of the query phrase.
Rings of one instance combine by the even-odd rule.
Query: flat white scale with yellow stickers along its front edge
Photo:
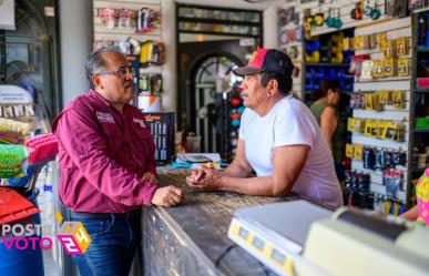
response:
[[[277,203],[235,212],[228,237],[279,275],[293,275],[311,223],[333,212],[306,201]]]

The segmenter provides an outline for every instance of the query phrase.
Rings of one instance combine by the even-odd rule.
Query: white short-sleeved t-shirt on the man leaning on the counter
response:
[[[316,119],[300,101],[290,95],[285,96],[265,116],[246,109],[242,116],[239,137],[245,142],[246,159],[257,176],[273,174],[276,146],[310,146],[307,161],[292,191],[333,207],[343,205],[329,145]]]

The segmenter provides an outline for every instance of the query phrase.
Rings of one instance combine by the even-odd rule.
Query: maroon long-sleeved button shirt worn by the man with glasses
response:
[[[55,117],[60,200],[74,212],[125,213],[150,205],[156,185],[155,145],[142,112],[126,104],[123,114],[90,90]]]

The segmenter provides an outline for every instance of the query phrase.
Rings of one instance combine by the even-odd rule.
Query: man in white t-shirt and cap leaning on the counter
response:
[[[311,112],[294,99],[290,58],[278,50],[258,49],[247,67],[234,69],[246,106],[233,163],[223,172],[204,167],[186,183],[201,191],[247,195],[294,192],[339,207],[341,190],[329,145]],[[256,177],[249,177],[252,171]]]

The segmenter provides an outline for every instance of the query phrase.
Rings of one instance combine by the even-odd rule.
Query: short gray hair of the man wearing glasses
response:
[[[86,80],[90,83],[91,89],[94,89],[92,83],[92,76],[105,71],[105,60],[102,58],[103,53],[120,53],[123,54],[118,47],[109,45],[102,47],[93,51],[86,59]]]

